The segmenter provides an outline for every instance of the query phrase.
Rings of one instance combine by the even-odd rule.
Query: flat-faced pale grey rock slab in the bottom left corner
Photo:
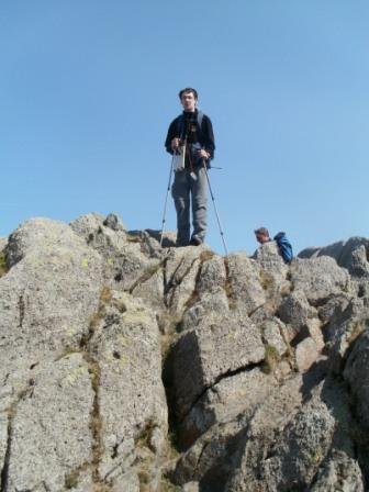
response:
[[[60,491],[80,466],[93,472],[89,365],[70,354],[35,368],[9,413],[10,443],[4,490]]]

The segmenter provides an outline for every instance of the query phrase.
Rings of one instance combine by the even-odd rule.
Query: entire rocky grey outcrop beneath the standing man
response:
[[[369,241],[159,239],[92,213],[0,242],[0,490],[368,490]]]

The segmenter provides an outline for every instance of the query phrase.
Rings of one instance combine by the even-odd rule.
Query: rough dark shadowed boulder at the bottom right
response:
[[[332,381],[317,384],[321,378],[320,371],[311,373],[308,385],[306,380],[291,379],[259,407],[225,491],[311,490],[322,465],[332,461],[338,450],[354,458],[346,433],[350,425],[348,399]]]

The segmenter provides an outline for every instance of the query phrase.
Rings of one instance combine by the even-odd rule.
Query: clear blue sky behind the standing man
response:
[[[297,251],[369,236],[367,0],[1,0],[0,236],[92,211],[160,228],[188,86],[230,250],[260,225]]]

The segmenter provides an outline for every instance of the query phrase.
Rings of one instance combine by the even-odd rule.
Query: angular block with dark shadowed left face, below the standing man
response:
[[[172,349],[178,418],[182,420],[222,378],[261,362],[264,355],[260,332],[237,312],[205,320],[198,328],[185,332]]]

